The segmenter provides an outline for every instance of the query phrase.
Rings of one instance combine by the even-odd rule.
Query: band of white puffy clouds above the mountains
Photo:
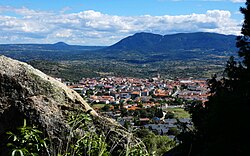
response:
[[[66,10],[68,10],[67,8]],[[110,45],[136,32],[239,34],[240,23],[225,10],[204,14],[116,16],[94,10],[77,13],[46,12],[0,6],[1,43],[54,43]]]

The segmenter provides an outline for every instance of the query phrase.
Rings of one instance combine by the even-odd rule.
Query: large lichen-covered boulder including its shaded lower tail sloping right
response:
[[[138,139],[114,120],[99,116],[75,91],[32,66],[0,56],[0,135],[22,124],[37,123],[51,138],[62,141],[69,130],[67,112],[84,109],[111,143],[137,144]]]

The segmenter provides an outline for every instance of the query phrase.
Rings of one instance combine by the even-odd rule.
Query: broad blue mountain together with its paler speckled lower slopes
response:
[[[164,60],[217,59],[235,55],[236,36],[217,33],[180,33],[158,35],[136,33],[111,45],[103,56],[130,63]]]

